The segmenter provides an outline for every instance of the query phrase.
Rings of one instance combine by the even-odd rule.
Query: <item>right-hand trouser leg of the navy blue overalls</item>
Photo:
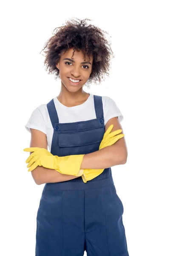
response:
[[[122,214],[113,184],[85,191],[87,256],[129,256]]]

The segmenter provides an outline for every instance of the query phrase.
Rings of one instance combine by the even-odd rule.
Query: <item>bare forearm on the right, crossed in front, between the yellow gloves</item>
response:
[[[125,163],[121,147],[114,145],[85,154],[80,169],[105,169]]]

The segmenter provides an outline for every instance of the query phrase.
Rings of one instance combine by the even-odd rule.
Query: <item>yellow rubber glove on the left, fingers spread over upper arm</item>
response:
[[[67,175],[81,176],[83,173],[80,166],[85,154],[58,157],[51,154],[47,149],[39,147],[24,148],[24,151],[33,152],[26,160],[27,167],[31,166],[28,172],[33,171],[37,166],[43,166]]]

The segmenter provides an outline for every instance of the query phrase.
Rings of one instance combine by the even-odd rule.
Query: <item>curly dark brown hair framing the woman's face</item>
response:
[[[45,43],[44,49],[47,49],[45,51],[42,49],[45,52],[45,70],[48,70],[48,74],[54,74],[55,79],[59,78],[56,64],[61,55],[70,48],[73,48],[74,52],[81,50],[84,58],[85,56],[93,56],[92,72],[86,83],[87,86],[92,82],[96,84],[96,81],[101,83],[102,79],[105,80],[103,76],[105,74],[109,76],[111,56],[114,58],[114,55],[110,47],[111,43],[104,34],[107,32],[94,25],[88,25],[86,20],[90,19],[68,20],[64,26],[54,29],[53,36]]]

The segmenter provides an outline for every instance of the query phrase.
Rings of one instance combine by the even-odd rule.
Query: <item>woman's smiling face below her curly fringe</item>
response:
[[[92,72],[93,56],[83,58],[82,51],[75,51],[73,58],[73,49],[68,49],[65,54],[61,55],[56,67],[59,69],[59,77],[62,84],[69,91],[78,91],[87,81]],[[86,62],[86,63],[82,63]],[[68,78],[80,80],[79,82],[70,81]]]

